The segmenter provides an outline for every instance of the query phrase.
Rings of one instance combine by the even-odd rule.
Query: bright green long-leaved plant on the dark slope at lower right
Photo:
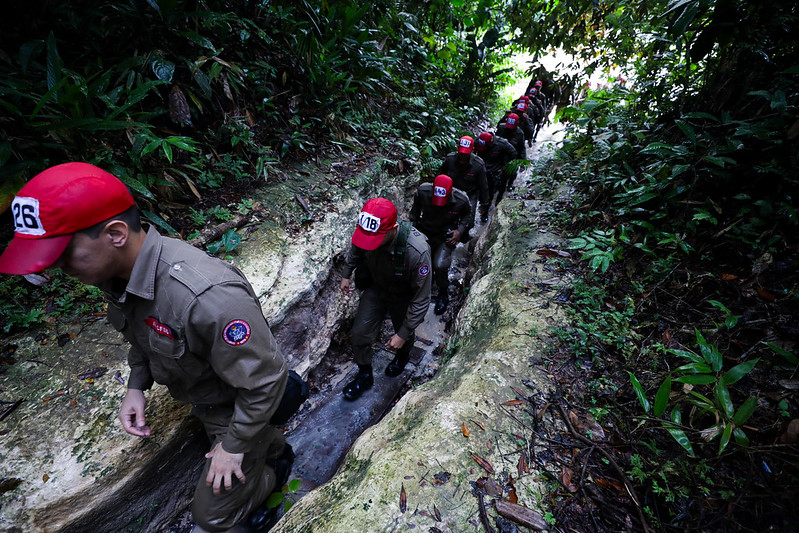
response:
[[[718,348],[707,342],[699,330],[695,331],[699,354],[687,350],[662,348],[664,353],[675,355],[688,361],[675,368],[661,383],[655,393],[654,404],[647,400],[644,388],[632,372],[629,372],[630,381],[644,411],[653,412],[657,417],[666,414],[669,404],[672,410],[663,420],[663,428],[680,444],[691,456],[695,455],[691,441],[684,431],[684,427],[707,425],[699,430],[706,441],[721,437],[718,453],[721,454],[730,443],[731,437],[741,446],[748,446],[749,438],[744,433],[742,426],[754,413],[757,406],[757,397],[752,396],[736,407],[730,394],[729,386],[749,374],[759,359],[752,359],[739,363],[726,372],[723,370],[723,357]],[[672,378],[672,376],[676,376]],[[682,393],[672,403],[672,381],[683,384]],[[709,392],[706,392],[709,391]],[[681,403],[691,406],[690,420],[683,425]],[[703,424],[703,421],[706,421]]]

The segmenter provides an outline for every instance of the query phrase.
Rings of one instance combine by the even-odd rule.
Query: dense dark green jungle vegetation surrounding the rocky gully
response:
[[[795,530],[798,17],[787,0],[12,3],[0,210],[38,171],[83,160],[189,238],[292,161],[379,154],[432,172],[506,104],[514,54],[618,69],[600,87],[533,70],[569,127],[541,179],[579,191],[563,222],[585,281],[555,350],[585,372],[564,395],[621,470],[563,451],[591,476],[553,487],[554,527]],[[96,310],[66,281],[0,293],[5,332]]]

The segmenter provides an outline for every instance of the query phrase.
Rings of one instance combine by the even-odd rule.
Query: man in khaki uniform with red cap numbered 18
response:
[[[404,241],[404,242],[403,242]],[[385,198],[372,198],[363,206],[352,235],[344,267],[341,291],[354,292],[350,280],[365,279],[350,343],[358,373],[344,386],[344,399],[357,400],[372,388],[372,342],[388,314],[394,335],[386,349],[395,351],[386,375],[398,376],[405,369],[415,340],[414,330],[422,323],[430,305],[430,247],[427,239],[409,222],[397,222],[397,209]],[[363,270],[368,273],[363,275]],[[358,289],[362,286],[359,283]]]

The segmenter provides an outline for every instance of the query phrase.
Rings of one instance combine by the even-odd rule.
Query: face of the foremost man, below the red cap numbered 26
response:
[[[113,258],[114,248],[105,232],[96,239],[78,232],[72,236],[69,246],[52,268],[60,268],[87,285],[99,285],[114,277]]]

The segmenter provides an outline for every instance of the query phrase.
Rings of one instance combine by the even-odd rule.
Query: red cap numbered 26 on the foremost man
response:
[[[0,272],[31,274],[52,265],[72,234],[134,205],[124,183],[88,163],[48,168],[11,203],[14,238],[0,256]]]

